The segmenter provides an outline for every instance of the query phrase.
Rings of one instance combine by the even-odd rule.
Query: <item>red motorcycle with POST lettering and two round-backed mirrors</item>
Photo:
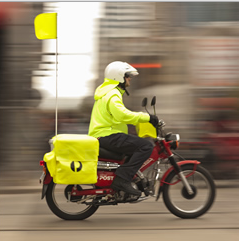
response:
[[[155,103],[154,97],[151,101],[154,112]],[[147,98],[144,98],[142,106],[145,109],[146,105]],[[41,161],[44,170],[40,178],[43,182],[42,199],[46,197],[51,211],[66,220],[86,219],[100,206],[138,203],[150,197],[157,201],[161,193],[168,210],[180,218],[197,218],[205,214],[216,195],[213,178],[199,161],[184,160],[174,151],[180,137],[165,133],[164,127],[164,121],[160,120],[156,128],[157,137],[151,138],[155,145],[153,152],[132,180],[132,186],[142,191],[140,197],[110,188],[115,170],[129,157],[100,148],[98,179],[94,185],[56,184],[46,163]]]

